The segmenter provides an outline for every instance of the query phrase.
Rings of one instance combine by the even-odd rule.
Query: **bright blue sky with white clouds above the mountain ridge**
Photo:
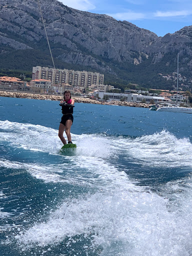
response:
[[[84,11],[127,20],[158,36],[192,25],[192,0],[60,0]]]

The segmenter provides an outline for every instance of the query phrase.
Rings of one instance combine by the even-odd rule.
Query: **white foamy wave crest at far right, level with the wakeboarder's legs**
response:
[[[119,147],[132,161],[158,167],[191,167],[192,144],[188,138],[176,138],[167,131],[135,139],[119,139]],[[126,158],[125,156],[125,158]]]

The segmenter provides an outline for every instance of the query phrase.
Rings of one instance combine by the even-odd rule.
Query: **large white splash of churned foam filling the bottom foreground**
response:
[[[171,209],[167,198],[150,191],[98,192],[63,202],[46,222],[34,223],[15,239],[28,249],[54,247],[65,239],[72,244],[83,234],[87,244],[91,242],[86,253],[101,246],[103,256],[187,256],[192,246],[192,200],[185,196],[178,198],[183,199],[181,208]]]

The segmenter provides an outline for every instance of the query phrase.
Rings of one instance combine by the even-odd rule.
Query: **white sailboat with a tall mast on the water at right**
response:
[[[156,111],[167,111],[167,112],[180,112],[192,114],[192,107],[183,107],[177,105],[178,95],[178,55],[177,55],[177,79],[176,79],[176,104],[164,103],[163,106],[158,106]]]

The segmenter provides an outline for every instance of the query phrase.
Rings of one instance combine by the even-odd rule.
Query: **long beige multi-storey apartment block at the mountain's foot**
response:
[[[91,84],[103,84],[104,74],[90,71],[75,71],[33,66],[32,79],[51,80],[52,84],[68,83],[87,88]]]

